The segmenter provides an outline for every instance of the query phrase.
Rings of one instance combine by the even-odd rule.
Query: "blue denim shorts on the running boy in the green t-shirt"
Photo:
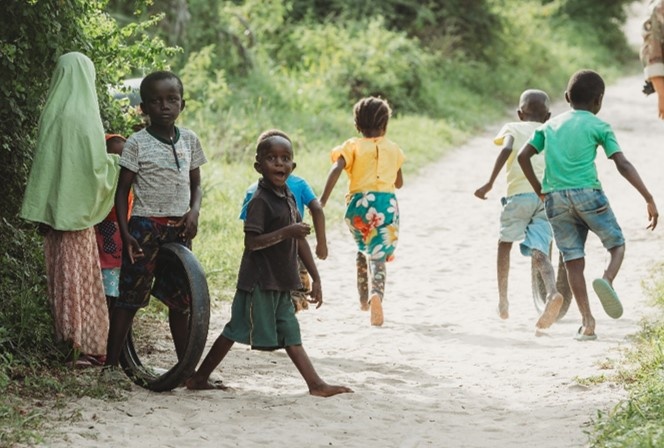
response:
[[[584,247],[590,230],[607,249],[625,244],[622,230],[602,190],[575,188],[547,193],[546,215],[563,260],[585,257]]]

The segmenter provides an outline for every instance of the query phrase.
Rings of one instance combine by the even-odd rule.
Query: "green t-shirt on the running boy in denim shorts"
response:
[[[529,142],[544,151],[542,193],[571,188],[597,188],[597,146],[606,157],[620,151],[611,126],[585,110],[570,110],[540,126]]]

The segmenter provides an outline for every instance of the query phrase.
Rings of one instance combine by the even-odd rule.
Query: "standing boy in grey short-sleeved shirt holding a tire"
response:
[[[141,82],[140,93],[141,109],[150,117],[150,125],[127,140],[115,195],[124,253],[120,297],[111,312],[102,371],[111,377],[117,371],[134,315],[148,304],[150,294],[169,307],[178,359],[184,354],[190,298],[184,280],[175,276],[159,275],[153,286],[155,261],[164,244],[191,247],[201,208],[200,166],[207,162],[196,134],[175,126],[185,106],[180,78],[166,71],[150,73]],[[134,207],[127,222],[127,197],[132,187]]]

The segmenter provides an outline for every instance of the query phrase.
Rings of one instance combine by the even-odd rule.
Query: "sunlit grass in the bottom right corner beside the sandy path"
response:
[[[643,322],[634,338],[619,383],[629,398],[608,413],[599,413],[591,446],[602,448],[656,448],[664,446],[664,265],[649,288],[659,315]]]

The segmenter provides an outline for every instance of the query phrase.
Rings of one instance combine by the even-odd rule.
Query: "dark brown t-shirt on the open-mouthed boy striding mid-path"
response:
[[[279,192],[261,179],[247,206],[244,232],[271,233],[301,220],[288,187]],[[288,238],[255,251],[244,249],[237,289],[252,291],[257,285],[268,291],[291,291],[302,287],[297,267],[296,239]]]

